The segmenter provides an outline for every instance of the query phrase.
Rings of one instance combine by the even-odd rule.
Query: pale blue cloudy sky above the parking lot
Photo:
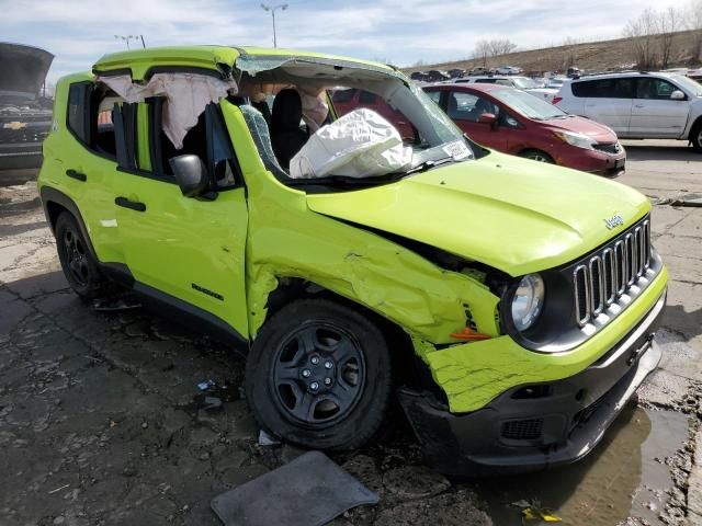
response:
[[[278,3],[283,3],[279,1]],[[278,4],[273,3],[273,4]],[[620,37],[645,0],[287,0],[276,11],[279,47],[396,66],[467,58],[480,39],[520,48]],[[656,9],[679,5],[656,0]],[[0,39],[56,57],[49,81],[89,70],[126,48],[114,35],[144,35],[148,47],[177,44],[272,46],[270,12],[238,0],[0,0]],[[140,42],[131,41],[132,47]]]

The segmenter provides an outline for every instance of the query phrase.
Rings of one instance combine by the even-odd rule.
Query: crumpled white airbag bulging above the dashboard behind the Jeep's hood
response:
[[[322,126],[290,162],[290,176],[370,178],[406,170],[412,149],[389,122],[372,110],[358,108]]]

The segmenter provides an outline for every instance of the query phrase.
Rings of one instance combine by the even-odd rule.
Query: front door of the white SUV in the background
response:
[[[648,138],[678,138],[688,124],[690,101],[672,100],[670,94],[679,90],[666,79],[639,77],[636,79],[636,96],[632,107],[631,135]]]

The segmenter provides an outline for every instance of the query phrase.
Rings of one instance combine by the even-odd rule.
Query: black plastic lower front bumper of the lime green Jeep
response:
[[[540,470],[579,460],[600,442],[658,366],[653,336],[664,293],[642,321],[595,364],[569,378],[514,387],[483,409],[453,414],[404,389],[400,403],[429,460],[454,476]]]

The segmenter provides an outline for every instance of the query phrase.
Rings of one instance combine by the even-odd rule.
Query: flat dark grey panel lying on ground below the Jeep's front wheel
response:
[[[321,526],[378,496],[320,451],[308,451],[212,500],[225,526]]]

